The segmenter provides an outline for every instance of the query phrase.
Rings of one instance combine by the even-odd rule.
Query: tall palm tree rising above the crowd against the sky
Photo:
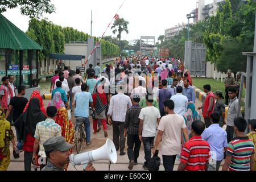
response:
[[[128,24],[129,24],[129,22],[127,22],[125,19],[119,18],[118,20],[115,20],[115,22],[113,23],[113,26],[111,27],[111,29],[114,29],[113,34],[118,32],[117,38],[119,39],[120,55],[121,55],[121,51],[122,51],[122,49],[121,49],[121,34],[123,31],[125,31],[126,34],[129,34]]]

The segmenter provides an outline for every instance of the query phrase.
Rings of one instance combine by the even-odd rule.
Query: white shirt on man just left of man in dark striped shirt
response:
[[[108,115],[112,116],[113,121],[125,122],[126,111],[132,105],[129,96],[118,93],[110,100]]]

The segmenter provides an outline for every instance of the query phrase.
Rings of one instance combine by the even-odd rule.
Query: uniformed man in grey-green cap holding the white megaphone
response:
[[[47,166],[42,171],[64,171],[64,166],[69,163],[72,144],[65,142],[63,137],[52,137],[43,144],[48,159]],[[88,164],[85,171],[95,171],[92,164]]]

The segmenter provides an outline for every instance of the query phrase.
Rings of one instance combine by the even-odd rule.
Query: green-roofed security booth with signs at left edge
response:
[[[38,43],[0,14],[0,77],[15,76],[16,88],[19,85],[26,86],[26,96],[35,89],[39,90],[38,52],[42,49]]]

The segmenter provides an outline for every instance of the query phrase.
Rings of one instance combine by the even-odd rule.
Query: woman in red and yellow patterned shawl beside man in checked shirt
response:
[[[64,137],[65,141],[73,144],[74,143],[74,134],[75,129],[73,127],[73,124],[70,119],[68,119],[68,111],[65,106],[60,107],[60,109],[57,111],[55,123],[60,125],[61,127],[61,135]],[[73,148],[69,150],[72,154]],[[65,166],[65,171],[67,171],[68,165]]]

